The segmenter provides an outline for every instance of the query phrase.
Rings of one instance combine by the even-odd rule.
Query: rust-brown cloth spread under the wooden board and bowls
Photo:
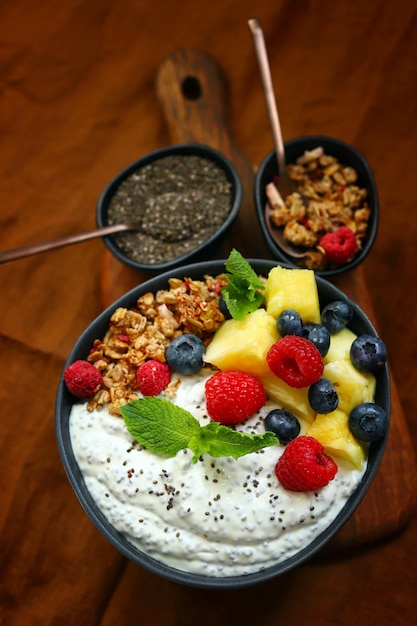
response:
[[[414,0],[3,0],[0,248],[94,226],[109,180],[169,142],[154,82],[179,48],[219,61],[236,142],[258,165],[272,139],[247,24],[254,16],[285,138],[338,137],[372,166],[381,222],[364,268],[416,441]],[[104,250],[97,240],[0,267],[0,623],[415,624],[415,518],[376,545],[318,555],[233,592],[160,579],[93,527],[59,459],[54,401],[67,354],[102,309]]]

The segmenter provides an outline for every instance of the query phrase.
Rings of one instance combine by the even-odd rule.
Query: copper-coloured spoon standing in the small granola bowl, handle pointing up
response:
[[[275,153],[278,162],[279,180],[276,183],[280,195],[285,199],[289,194],[297,191],[293,182],[289,179],[286,169],[284,142],[282,140],[281,125],[279,122],[278,108],[276,104],[274,87],[272,84],[271,70],[269,67],[268,55],[266,52],[265,39],[260,21],[257,18],[248,20],[249,28],[253,35],[256,58],[262,80],[262,86],[268,111],[269,123],[271,125],[272,137],[274,140]],[[306,251],[294,246],[284,238],[281,228],[274,228],[270,219],[271,207],[269,203],[265,206],[265,222],[269,234],[276,244],[282,248],[289,256],[303,258]]]

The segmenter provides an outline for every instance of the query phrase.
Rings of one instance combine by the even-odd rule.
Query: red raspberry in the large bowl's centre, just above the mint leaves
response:
[[[206,407],[214,422],[237,424],[259,411],[265,389],[251,374],[233,370],[216,372],[206,381]]]

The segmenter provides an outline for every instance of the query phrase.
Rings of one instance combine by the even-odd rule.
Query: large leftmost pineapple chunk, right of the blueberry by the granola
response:
[[[266,355],[278,339],[274,318],[257,309],[242,320],[223,322],[207,346],[205,361],[221,370],[263,376],[270,373]]]

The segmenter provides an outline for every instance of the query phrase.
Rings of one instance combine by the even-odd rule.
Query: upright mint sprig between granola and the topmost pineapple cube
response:
[[[247,313],[259,309],[264,301],[265,285],[246,259],[234,248],[225,263],[228,284],[221,293],[233,319],[241,320]]]

